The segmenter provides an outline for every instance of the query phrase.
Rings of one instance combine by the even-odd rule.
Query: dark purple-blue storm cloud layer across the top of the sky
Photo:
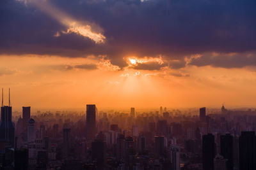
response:
[[[61,31],[67,31],[67,28],[43,11],[19,1],[1,0],[0,52],[65,57],[108,55],[113,64],[125,66],[125,55],[163,55],[165,59],[182,61],[184,56],[195,53],[253,53],[256,48],[254,0],[51,2],[79,21],[100,25],[106,43],[96,45],[92,40],[77,34],[63,34]],[[60,32],[58,37],[54,36],[57,31]],[[205,56],[193,62],[201,66],[204,65],[200,61],[203,59],[205,64],[220,67],[250,64],[244,56],[235,58],[238,63],[232,60],[233,65],[223,64],[230,61],[229,57],[215,60]],[[184,62],[175,64],[170,66],[184,66]]]

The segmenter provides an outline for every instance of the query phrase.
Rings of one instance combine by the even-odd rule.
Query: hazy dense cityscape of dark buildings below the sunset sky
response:
[[[129,113],[51,111],[13,117],[4,106],[0,125],[1,169],[256,168],[256,110],[207,108]]]

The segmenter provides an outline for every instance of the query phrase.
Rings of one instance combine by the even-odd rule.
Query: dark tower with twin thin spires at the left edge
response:
[[[0,124],[0,141],[10,143],[14,147],[15,143],[15,127],[12,122],[12,106],[10,103],[10,89],[9,89],[9,105],[4,106],[2,89],[2,105],[1,105],[1,124]]]

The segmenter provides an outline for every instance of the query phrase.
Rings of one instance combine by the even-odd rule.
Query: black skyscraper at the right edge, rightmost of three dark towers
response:
[[[256,137],[254,131],[241,132],[239,138],[239,169],[256,169]]]

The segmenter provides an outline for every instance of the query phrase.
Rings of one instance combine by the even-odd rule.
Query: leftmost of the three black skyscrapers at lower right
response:
[[[214,143],[214,136],[212,134],[205,134],[203,136],[203,170],[213,170],[213,159],[215,157],[215,143]]]

